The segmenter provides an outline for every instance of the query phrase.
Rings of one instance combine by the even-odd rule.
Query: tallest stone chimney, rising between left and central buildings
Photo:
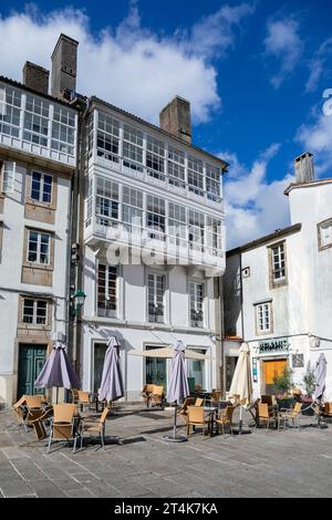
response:
[[[60,34],[52,53],[52,90],[54,97],[63,98],[63,91],[75,91],[79,42]]]

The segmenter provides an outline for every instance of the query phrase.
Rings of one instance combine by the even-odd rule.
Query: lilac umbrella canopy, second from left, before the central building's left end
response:
[[[107,342],[102,383],[98,393],[100,401],[116,401],[124,396],[124,384],[120,366],[120,343],[115,336]]]

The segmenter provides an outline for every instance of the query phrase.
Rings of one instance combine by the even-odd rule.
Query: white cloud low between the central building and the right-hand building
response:
[[[271,145],[250,169],[235,154],[219,154],[230,163],[225,177],[227,249],[289,226],[289,204],[283,190],[293,177],[287,175],[272,183],[266,178],[269,162],[279,148],[279,144]]]

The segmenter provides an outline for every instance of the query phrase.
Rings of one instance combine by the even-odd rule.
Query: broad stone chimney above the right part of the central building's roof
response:
[[[175,96],[159,114],[159,125],[169,134],[191,143],[190,103],[183,97]]]

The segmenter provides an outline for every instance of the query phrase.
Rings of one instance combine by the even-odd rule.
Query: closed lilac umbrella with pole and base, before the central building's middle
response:
[[[187,440],[185,437],[176,435],[176,418],[177,418],[177,405],[180,401],[184,401],[189,394],[187,370],[185,362],[186,347],[181,341],[178,341],[174,349],[174,357],[172,361],[172,374],[169,377],[169,385],[167,392],[168,403],[175,403],[174,409],[174,430],[173,436],[164,436],[165,440],[173,443],[183,443]]]

